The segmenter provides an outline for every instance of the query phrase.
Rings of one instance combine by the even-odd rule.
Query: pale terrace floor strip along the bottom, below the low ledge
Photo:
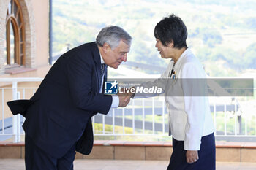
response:
[[[165,170],[168,161],[75,160],[75,170]],[[1,170],[24,170],[23,159],[0,159]],[[217,170],[255,170],[256,163],[217,162]]]

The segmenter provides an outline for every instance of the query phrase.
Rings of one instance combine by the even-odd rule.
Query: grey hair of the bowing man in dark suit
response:
[[[121,40],[127,45],[131,45],[132,37],[127,33],[127,31],[124,31],[123,28],[118,26],[107,26],[99,31],[96,43],[100,47],[103,47],[104,43],[108,43],[111,49],[114,49],[119,45]]]

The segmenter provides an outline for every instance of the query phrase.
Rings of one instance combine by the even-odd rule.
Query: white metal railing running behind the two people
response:
[[[19,87],[18,82],[41,82],[42,78],[0,78],[1,87],[0,140],[14,137],[20,142],[24,135],[20,115],[7,116],[7,98],[30,98],[37,87]],[[30,96],[27,94],[29,90]],[[254,97],[210,97],[216,136],[256,137],[256,100]],[[9,113],[10,114],[10,113]],[[133,99],[126,108],[110,109],[108,115],[92,118],[95,136],[168,135],[167,109],[163,97]]]

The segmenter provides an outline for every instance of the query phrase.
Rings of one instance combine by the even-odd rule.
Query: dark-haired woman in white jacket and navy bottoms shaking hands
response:
[[[205,93],[206,74],[187,47],[187,28],[181,18],[170,15],[157,23],[154,36],[161,57],[171,60],[161,79],[143,86],[157,85],[165,90],[173,135],[173,154],[167,170],[214,170],[214,123]]]

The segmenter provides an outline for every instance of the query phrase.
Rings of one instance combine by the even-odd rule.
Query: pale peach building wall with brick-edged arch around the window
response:
[[[25,28],[25,57],[23,66],[11,72],[7,72],[5,35],[7,10],[15,0],[0,1],[0,77],[43,77],[49,69],[49,1],[18,0]]]

